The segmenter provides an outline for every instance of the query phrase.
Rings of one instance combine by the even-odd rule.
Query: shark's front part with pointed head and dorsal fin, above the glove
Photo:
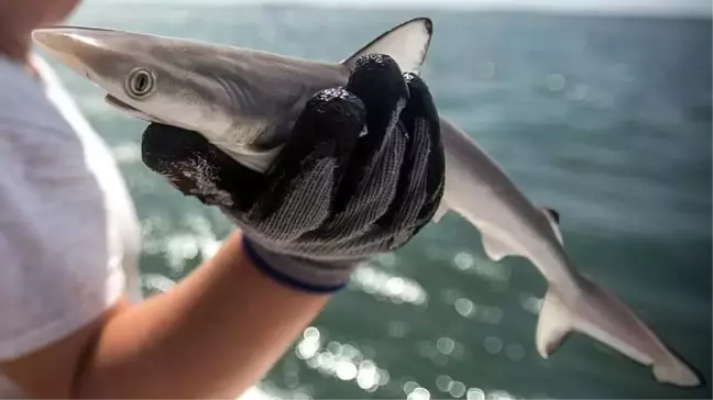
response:
[[[238,162],[265,170],[307,100],[344,85],[356,59],[392,56],[418,73],[429,19],[406,21],[340,63],[135,32],[56,26],[33,40],[135,118],[196,131]]]

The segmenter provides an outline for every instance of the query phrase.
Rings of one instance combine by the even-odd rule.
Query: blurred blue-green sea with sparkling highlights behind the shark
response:
[[[710,380],[713,376],[713,1],[323,3],[85,0],[73,24],[337,62],[429,16],[423,76],[537,204],[566,248]],[[146,295],[168,289],[231,229],[140,160],[145,124],[56,66],[128,180]],[[473,199],[478,201],[478,199]],[[713,399],[580,335],[534,347],[545,281],[492,263],[456,214],[365,264],[245,399]],[[245,326],[250,329],[250,326]]]

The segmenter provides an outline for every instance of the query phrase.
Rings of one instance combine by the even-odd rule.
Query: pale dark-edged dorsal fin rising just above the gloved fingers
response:
[[[340,64],[351,70],[356,59],[362,55],[380,53],[394,58],[402,71],[418,74],[418,69],[426,59],[432,33],[434,24],[430,19],[409,20],[382,33]]]

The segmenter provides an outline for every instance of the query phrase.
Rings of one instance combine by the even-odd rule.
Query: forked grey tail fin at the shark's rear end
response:
[[[661,341],[603,287],[581,277],[582,290],[574,297],[560,296],[550,287],[542,301],[536,332],[536,347],[548,358],[570,333],[583,333],[632,358],[652,366],[656,380],[683,387],[701,385],[691,367],[673,355]]]

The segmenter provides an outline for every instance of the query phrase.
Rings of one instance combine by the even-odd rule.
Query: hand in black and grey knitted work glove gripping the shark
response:
[[[142,158],[183,193],[219,207],[260,269],[314,292],[338,290],[360,260],[408,242],[443,195],[431,95],[383,55],[362,57],[345,88],[307,102],[264,175],[198,133],[155,123]]]

